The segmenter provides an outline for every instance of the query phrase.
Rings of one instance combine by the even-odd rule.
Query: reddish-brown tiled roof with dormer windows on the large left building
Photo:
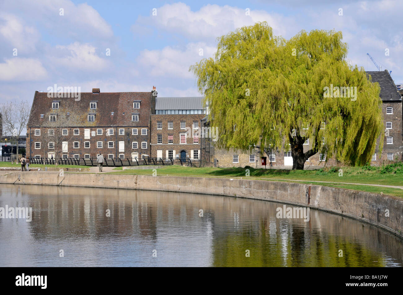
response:
[[[56,95],[56,93],[55,93]],[[108,127],[149,126],[151,113],[151,92],[81,93],[80,100],[74,97],[52,98],[46,92],[35,92],[28,127],[47,126],[49,115],[56,113],[66,120],[60,126],[66,127]],[[52,101],[60,101],[58,109],[52,109]],[[97,101],[96,109],[90,109],[90,102]],[[133,101],[141,101],[139,109],[133,109]],[[70,114],[67,115],[67,112]],[[87,116],[95,113],[95,121],[88,122]],[[113,115],[112,115],[113,113]],[[139,121],[131,121],[131,114],[139,113]],[[44,118],[40,119],[40,115]],[[42,121],[42,122],[41,122]],[[52,126],[49,124],[49,126]]]

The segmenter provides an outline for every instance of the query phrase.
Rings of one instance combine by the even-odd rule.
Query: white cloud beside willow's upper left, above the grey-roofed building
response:
[[[202,50],[202,51],[201,51]],[[207,46],[204,42],[189,43],[185,48],[166,46],[162,50],[143,50],[137,61],[153,77],[192,78],[189,66],[214,54],[216,47]],[[202,56],[199,54],[203,54]]]

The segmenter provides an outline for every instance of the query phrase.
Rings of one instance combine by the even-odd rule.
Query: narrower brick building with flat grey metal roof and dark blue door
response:
[[[203,97],[157,97],[151,115],[151,156],[200,159]]]

